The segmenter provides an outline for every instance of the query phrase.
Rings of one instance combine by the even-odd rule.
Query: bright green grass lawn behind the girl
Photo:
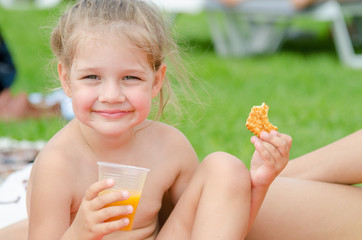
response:
[[[57,15],[57,9],[0,9],[0,26],[18,67],[14,93],[54,87],[47,26]],[[204,102],[188,105],[177,126],[200,159],[222,150],[248,165],[253,146],[244,124],[250,108],[262,102],[270,106],[270,121],[293,137],[292,158],[361,128],[362,71],[340,64],[325,24],[311,24],[318,31],[315,40],[288,42],[276,54],[248,58],[217,56],[202,14],[180,16],[174,27]],[[4,122],[0,136],[47,140],[63,125],[60,119]]]

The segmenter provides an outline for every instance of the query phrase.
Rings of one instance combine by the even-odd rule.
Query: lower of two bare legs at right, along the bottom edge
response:
[[[279,177],[246,239],[360,239],[361,202],[359,187]]]

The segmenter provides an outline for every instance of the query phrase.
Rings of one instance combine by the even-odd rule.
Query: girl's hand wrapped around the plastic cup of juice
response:
[[[112,191],[99,195],[100,192],[114,185],[113,179],[106,179],[92,184],[86,191],[78,213],[70,229],[78,239],[102,239],[129,224],[128,218],[105,222],[111,217],[127,215],[133,212],[132,206],[110,206],[107,204],[129,198],[127,191]]]

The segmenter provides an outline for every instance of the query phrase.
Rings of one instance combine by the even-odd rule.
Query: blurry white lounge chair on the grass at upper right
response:
[[[362,68],[362,56],[354,51],[345,20],[361,19],[362,1],[343,4],[327,1],[296,10],[289,0],[245,0],[233,8],[208,0],[205,9],[215,49],[220,55],[246,56],[275,52],[282,44],[293,18],[308,17],[331,22],[340,61],[352,68]]]

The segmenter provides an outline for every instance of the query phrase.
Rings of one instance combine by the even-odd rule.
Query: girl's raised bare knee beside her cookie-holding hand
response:
[[[224,190],[249,191],[250,174],[244,163],[235,156],[225,152],[208,155],[201,163],[210,181],[216,181]]]

